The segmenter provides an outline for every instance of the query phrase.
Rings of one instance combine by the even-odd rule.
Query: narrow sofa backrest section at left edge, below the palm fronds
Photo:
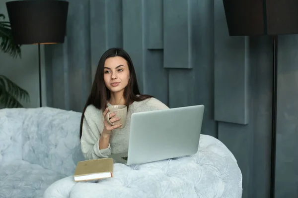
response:
[[[22,159],[24,108],[0,109],[0,164]]]

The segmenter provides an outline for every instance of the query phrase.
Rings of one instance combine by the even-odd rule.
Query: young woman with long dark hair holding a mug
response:
[[[125,104],[125,127],[111,126],[106,121],[107,106]],[[112,153],[128,151],[130,118],[135,112],[168,108],[158,99],[141,95],[136,72],[128,53],[120,48],[108,49],[101,56],[91,93],[85,104],[80,123],[81,150],[86,159],[105,158]],[[109,116],[113,123],[119,118]]]

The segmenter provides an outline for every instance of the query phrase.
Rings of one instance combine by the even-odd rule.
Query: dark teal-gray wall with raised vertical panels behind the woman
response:
[[[270,193],[272,37],[229,37],[222,0],[70,0],[66,42],[46,46],[48,106],[81,111],[101,54],[123,47],[140,89],[170,107],[206,106],[203,134]],[[276,198],[298,197],[298,36],[279,37]]]

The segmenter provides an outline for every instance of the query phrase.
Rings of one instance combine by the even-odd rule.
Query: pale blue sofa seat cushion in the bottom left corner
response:
[[[53,182],[64,177],[40,165],[13,160],[0,165],[0,198],[42,198]]]

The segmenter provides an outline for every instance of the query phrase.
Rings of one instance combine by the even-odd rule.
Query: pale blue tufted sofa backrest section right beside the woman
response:
[[[23,160],[73,175],[77,161],[83,160],[80,116],[79,112],[50,107],[27,109],[23,120]]]

